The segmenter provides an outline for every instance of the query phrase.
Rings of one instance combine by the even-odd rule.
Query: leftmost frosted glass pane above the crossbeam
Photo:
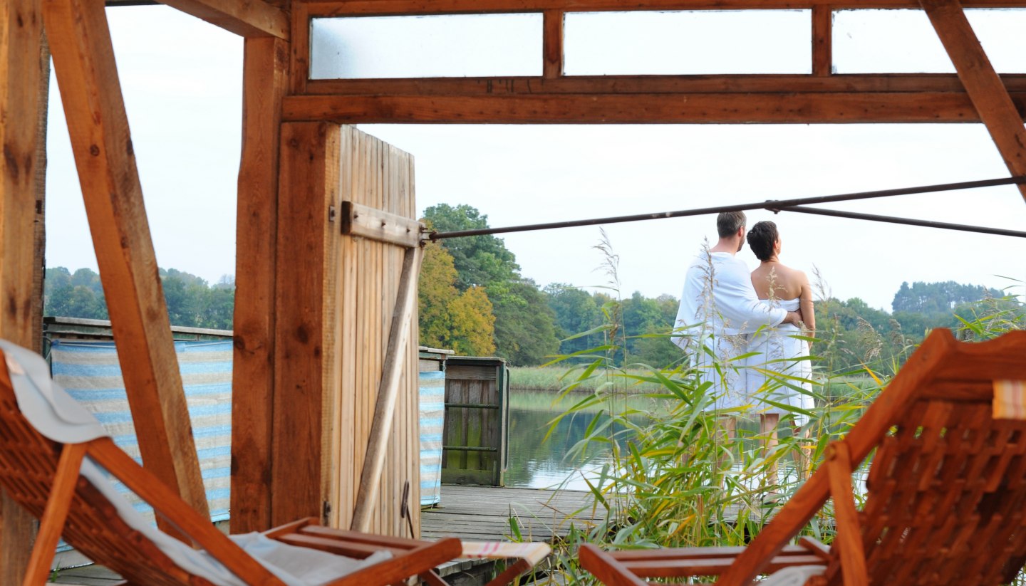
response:
[[[313,18],[311,79],[542,75],[542,14]]]

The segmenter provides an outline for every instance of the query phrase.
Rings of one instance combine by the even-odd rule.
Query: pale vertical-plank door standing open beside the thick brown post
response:
[[[415,218],[413,158],[384,142],[343,126],[341,142],[342,199]],[[333,526],[349,527],[356,504],[363,455],[385,362],[395,307],[403,248],[351,236],[341,236],[337,292],[340,380],[332,397],[329,501]],[[420,535],[420,425],[418,419],[417,316],[404,349],[405,363],[396,401],[395,420],[382,475],[373,533],[408,536],[399,517],[403,484]]]

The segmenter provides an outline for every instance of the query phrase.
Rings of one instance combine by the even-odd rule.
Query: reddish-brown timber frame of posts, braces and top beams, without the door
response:
[[[1026,174],[1026,76],[998,76],[964,7],[1026,7],[1026,0],[165,0],[245,37],[243,150],[239,171],[233,530],[265,530],[276,516],[321,516],[326,465],[315,438],[299,444],[288,425],[322,413],[322,377],[298,387],[287,364],[328,372],[304,321],[320,315],[325,282],[289,279],[287,244],[317,240],[302,212],[304,190],[282,161],[309,148],[293,128],[325,123],[846,123],[982,122],[1011,174]],[[116,3],[116,0],[115,2]],[[807,75],[565,76],[567,11],[810,9]],[[922,8],[957,75],[836,75],[831,22],[837,9]],[[542,75],[520,78],[309,80],[310,18],[445,13],[541,12]],[[7,0],[0,7],[0,336],[35,345],[42,248],[37,120],[42,31],[49,32],[101,277],[130,379],[133,415],[155,424],[141,437],[144,461],[203,510],[192,437],[183,417],[167,312],[143,206],[104,9],[84,0]],[[45,94],[43,94],[45,95]],[[289,132],[292,132],[291,130]],[[305,153],[309,151],[304,151]],[[1026,186],[1020,185],[1024,196]],[[324,205],[319,200],[313,205]],[[292,211],[287,211],[292,210]],[[287,213],[286,213],[287,212]],[[291,215],[289,215],[291,214]],[[322,229],[323,226],[317,229]],[[315,231],[316,232],[316,231]],[[285,255],[285,256],[283,256]],[[382,260],[384,261],[384,260]],[[347,285],[336,284],[345,288]],[[312,315],[281,311],[315,299]],[[116,307],[116,308],[115,308]],[[285,360],[288,363],[286,364]],[[331,367],[333,368],[333,367]],[[282,370],[284,369],[284,370]],[[377,384],[377,383],[376,383]],[[301,388],[302,387],[302,388]],[[244,389],[244,392],[241,390]],[[292,423],[289,423],[292,422]],[[284,427],[282,427],[284,426]],[[294,430],[294,428],[292,428]],[[193,456],[190,456],[193,454]],[[297,462],[309,465],[297,466]],[[310,464],[312,463],[312,464]],[[372,466],[371,466],[372,467]],[[275,511],[272,493],[307,495]],[[0,582],[13,583],[27,556],[24,515],[3,501]],[[21,553],[19,553],[21,551]],[[21,559],[21,561],[19,561]]]

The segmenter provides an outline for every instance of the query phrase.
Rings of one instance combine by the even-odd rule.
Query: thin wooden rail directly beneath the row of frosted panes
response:
[[[1003,75],[1026,92],[1026,75]],[[563,93],[965,93],[954,74],[573,76],[311,80],[311,95],[540,95]]]

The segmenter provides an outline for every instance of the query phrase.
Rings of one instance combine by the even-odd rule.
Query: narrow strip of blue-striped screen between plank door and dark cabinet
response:
[[[432,506],[441,501],[445,371],[420,373],[420,389],[421,506]]]

